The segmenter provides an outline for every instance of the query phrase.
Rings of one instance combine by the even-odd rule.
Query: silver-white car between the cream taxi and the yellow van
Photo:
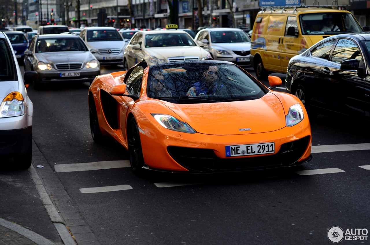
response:
[[[242,67],[250,67],[250,38],[239,28],[210,28],[199,31],[195,40],[204,43],[203,48],[215,60],[231,61]]]

